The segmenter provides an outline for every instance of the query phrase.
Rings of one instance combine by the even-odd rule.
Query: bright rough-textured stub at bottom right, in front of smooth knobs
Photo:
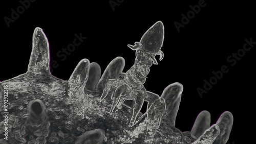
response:
[[[207,129],[196,141],[192,144],[201,144],[201,143],[212,143],[216,137],[220,134],[220,127],[218,125],[212,125]]]

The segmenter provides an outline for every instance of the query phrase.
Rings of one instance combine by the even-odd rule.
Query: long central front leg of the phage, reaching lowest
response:
[[[130,121],[130,127],[134,126],[137,115],[140,112],[142,105],[144,103],[144,95],[142,91],[137,91],[138,94],[135,95],[134,106],[133,106],[133,116]]]

